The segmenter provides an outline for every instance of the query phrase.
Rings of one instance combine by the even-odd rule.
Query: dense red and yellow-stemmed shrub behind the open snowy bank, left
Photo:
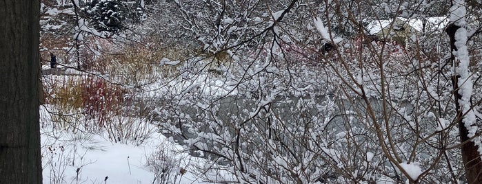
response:
[[[46,104],[52,105],[56,111],[52,120],[64,128],[67,128],[66,123],[79,128],[79,119],[85,119],[86,129],[102,127],[112,120],[112,115],[119,115],[127,93],[121,87],[94,76],[55,76],[47,81]]]

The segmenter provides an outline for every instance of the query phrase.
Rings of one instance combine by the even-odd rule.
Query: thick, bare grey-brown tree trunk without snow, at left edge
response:
[[[39,0],[0,0],[0,183],[42,183]]]

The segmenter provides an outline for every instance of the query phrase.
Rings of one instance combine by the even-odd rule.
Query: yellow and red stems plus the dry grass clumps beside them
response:
[[[53,126],[72,132],[105,133],[111,141],[141,143],[154,130],[148,117],[128,112],[132,93],[96,76],[47,80],[46,104]]]

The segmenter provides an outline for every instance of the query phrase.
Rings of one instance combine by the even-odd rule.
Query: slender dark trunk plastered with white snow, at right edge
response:
[[[481,139],[476,136],[478,127],[470,98],[472,97],[472,78],[469,72],[469,54],[467,49],[467,30],[465,30],[465,3],[462,0],[452,1],[450,8],[450,25],[446,32],[450,36],[450,49],[454,73],[452,83],[454,87],[455,106],[462,145],[462,160],[468,183],[482,183],[482,160],[480,153]],[[471,140],[472,139],[472,140]]]

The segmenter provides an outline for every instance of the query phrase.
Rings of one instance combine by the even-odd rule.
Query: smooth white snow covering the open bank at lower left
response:
[[[43,183],[153,183],[154,172],[149,170],[147,163],[159,149],[171,157],[165,159],[177,161],[170,167],[172,181],[177,177],[175,183],[179,180],[179,183],[201,183],[190,172],[194,170],[190,163],[199,163],[201,159],[179,153],[182,146],[174,145],[159,133],[136,146],[112,143],[101,135],[66,133],[44,126],[41,128],[41,146]],[[182,177],[178,172],[181,168],[187,171]]]

